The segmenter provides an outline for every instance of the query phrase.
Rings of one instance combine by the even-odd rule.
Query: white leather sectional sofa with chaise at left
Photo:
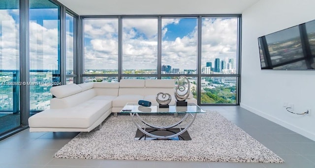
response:
[[[159,92],[172,95],[174,80],[122,79],[120,82],[90,82],[51,88],[55,96],[50,109],[29,118],[30,132],[90,132],[111,113],[117,114],[127,102],[151,101],[158,105]],[[190,94],[187,101],[197,103]]]

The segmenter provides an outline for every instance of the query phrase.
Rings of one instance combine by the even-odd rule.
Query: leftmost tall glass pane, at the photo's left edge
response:
[[[0,2],[0,134],[21,125],[19,1]]]

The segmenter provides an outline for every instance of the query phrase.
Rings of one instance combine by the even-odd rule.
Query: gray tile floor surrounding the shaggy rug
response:
[[[30,133],[0,141],[0,168],[315,168],[315,142],[239,106],[202,106],[231,120],[285,160],[275,163],[58,159],[52,155],[77,133]]]

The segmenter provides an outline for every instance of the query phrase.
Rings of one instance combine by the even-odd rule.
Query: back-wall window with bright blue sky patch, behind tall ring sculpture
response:
[[[186,75],[190,91],[197,98],[198,19],[166,17],[161,24],[161,78],[176,81],[179,75]]]

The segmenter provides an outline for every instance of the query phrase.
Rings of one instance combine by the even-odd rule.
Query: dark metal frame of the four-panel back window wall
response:
[[[202,40],[202,18],[237,18],[238,24],[237,24],[237,55],[236,55],[236,74],[201,74],[201,40]],[[81,74],[80,78],[81,81],[84,76],[115,76],[118,77],[118,81],[122,78],[126,77],[157,77],[157,79],[161,79],[163,77],[169,77],[169,76],[180,76],[181,74],[162,74],[161,73],[161,43],[162,43],[162,35],[161,35],[161,29],[162,29],[162,18],[197,18],[197,29],[198,29],[198,37],[197,37],[197,61],[196,61],[196,74],[185,74],[188,77],[196,77],[197,78],[197,101],[198,105],[239,105],[240,104],[240,78],[241,78],[241,25],[242,25],[242,15],[241,14],[219,14],[219,15],[97,15],[97,16],[80,16],[80,27],[81,27],[81,35],[83,36],[83,27],[84,27],[84,19],[106,19],[106,18],[118,18],[118,74],[84,74],[83,71],[83,64],[84,60],[81,62]],[[145,19],[145,18],[158,18],[158,68],[157,68],[157,74],[124,74],[122,72],[122,20],[124,18],[139,18],[139,19]],[[83,49],[84,49],[84,43],[83,39],[81,38],[81,58],[84,58],[83,55]],[[236,83],[236,103],[234,104],[201,104],[201,78],[203,77],[236,77],[237,83]]]

